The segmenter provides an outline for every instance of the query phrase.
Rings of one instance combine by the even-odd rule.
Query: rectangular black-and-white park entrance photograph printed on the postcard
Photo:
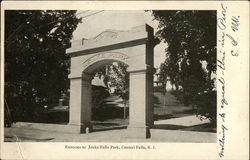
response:
[[[216,11],[5,10],[4,59],[5,142],[216,142]]]

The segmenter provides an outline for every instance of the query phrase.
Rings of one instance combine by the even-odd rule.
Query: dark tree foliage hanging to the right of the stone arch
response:
[[[157,36],[167,44],[160,78],[169,77],[176,87],[175,95],[184,104],[204,108],[195,97],[215,89],[211,75],[216,72],[216,12],[155,10],[152,15],[159,21]],[[212,98],[211,94],[206,96]],[[214,110],[198,111],[210,119],[210,115],[216,118],[216,114],[210,113]]]

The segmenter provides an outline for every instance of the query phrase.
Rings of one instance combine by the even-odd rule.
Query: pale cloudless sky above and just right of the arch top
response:
[[[92,38],[105,30],[129,30],[132,27],[147,23],[157,31],[158,22],[153,21],[150,12],[143,10],[90,10],[77,11],[77,17],[83,17],[73,33],[73,39]],[[166,44],[158,44],[154,49],[155,68],[159,67],[165,59]]]

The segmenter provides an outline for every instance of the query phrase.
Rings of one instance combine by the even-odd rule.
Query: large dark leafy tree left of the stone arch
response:
[[[33,120],[69,88],[69,47],[76,11],[5,11],[5,99],[14,121]]]

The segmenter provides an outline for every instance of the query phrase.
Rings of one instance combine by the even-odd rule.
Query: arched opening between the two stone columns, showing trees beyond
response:
[[[127,67],[128,64],[119,60],[102,59],[84,69],[83,77],[93,76],[89,84],[92,132],[127,128],[129,114]]]

